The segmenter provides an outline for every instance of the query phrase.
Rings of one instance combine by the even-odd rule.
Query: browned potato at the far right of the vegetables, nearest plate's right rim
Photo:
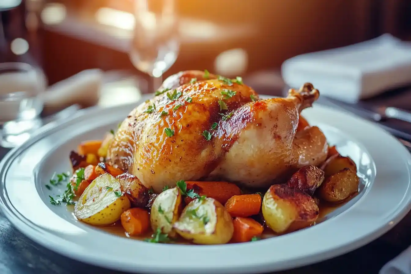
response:
[[[359,183],[356,172],[350,168],[344,168],[321,184],[318,195],[328,202],[339,203],[357,193]]]

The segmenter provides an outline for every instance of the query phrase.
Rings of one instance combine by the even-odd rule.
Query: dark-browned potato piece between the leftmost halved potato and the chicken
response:
[[[121,186],[121,190],[126,193],[132,206],[145,207],[148,203],[148,188],[140,180],[129,173],[123,173],[116,177]]]

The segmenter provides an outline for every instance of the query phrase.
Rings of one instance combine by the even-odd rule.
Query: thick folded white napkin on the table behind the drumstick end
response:
[[[385,34],[342,48],[298,55],[282,64],[291,87],[310,82],[321,94],[349,103],[411,84],[411,43]]]

